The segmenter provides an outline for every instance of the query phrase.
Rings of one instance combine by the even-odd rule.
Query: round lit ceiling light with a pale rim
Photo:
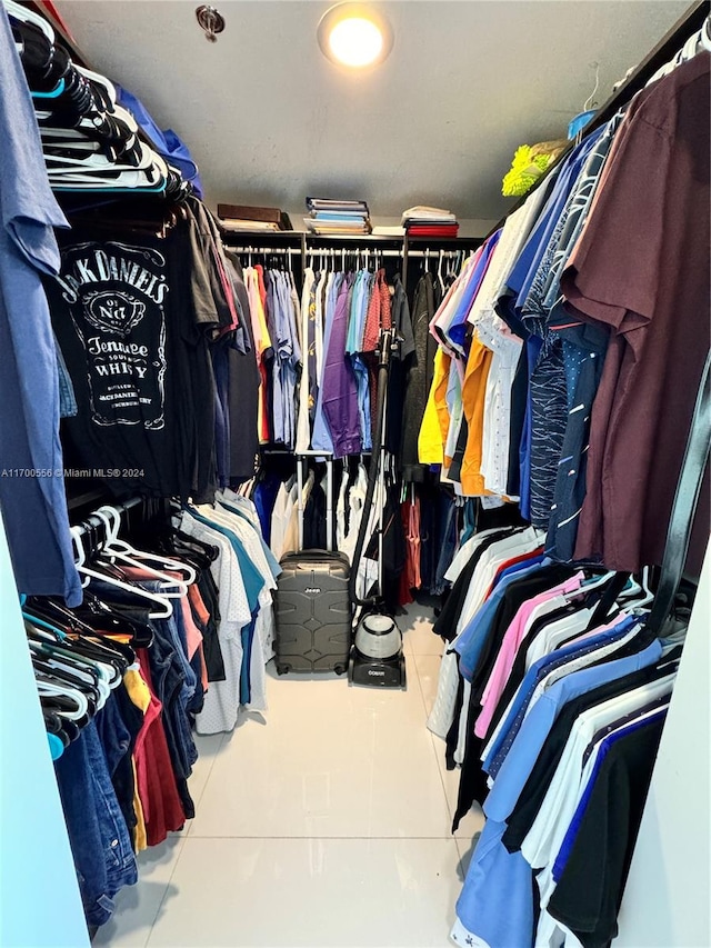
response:
[[[363,69],[382,62],[393,44],[392,28],[370,3],[338,3],[319,22],[321,52],[341,66]]]

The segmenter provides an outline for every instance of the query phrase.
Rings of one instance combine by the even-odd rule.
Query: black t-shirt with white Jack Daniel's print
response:
[[[214,383],[189,223],[164,239],[72,230],[60,249],[46,289],[79,409],[64,421],[68,457],[118,495],[209,495]]]

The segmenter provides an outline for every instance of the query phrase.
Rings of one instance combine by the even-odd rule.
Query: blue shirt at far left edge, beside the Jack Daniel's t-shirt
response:
[[[54,227],[68,223],[49,187],[32,99],[2,8],[0,507],[19,590],[63,596],[79,606],[59,441],[57,350],[40,279],[59,272]]]

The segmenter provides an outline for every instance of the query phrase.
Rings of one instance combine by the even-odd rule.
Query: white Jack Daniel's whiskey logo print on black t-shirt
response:
[[[87,357],[96,425],[164,427],[166,258],[123,243],[81,243],[58,278]]]

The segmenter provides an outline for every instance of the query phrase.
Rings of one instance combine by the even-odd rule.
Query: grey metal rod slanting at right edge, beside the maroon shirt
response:
[[[691,421],[681,477],[671,512],[662,570],[654,597],[654,603],[647,621],[647,628],[659,635],[667,618],[671,615],[674,596],[687,560],[691,528],[699,502],[703,473],[711,447],[711,352],[699,386],[699,395]]]

